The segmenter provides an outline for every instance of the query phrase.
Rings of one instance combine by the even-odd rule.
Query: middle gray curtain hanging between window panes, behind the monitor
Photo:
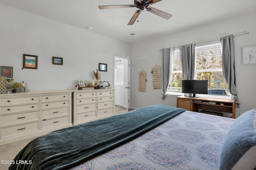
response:
[[[184,80],[194,80],[196,67],[196,49],[194,43],[179,46],[180,61]]]

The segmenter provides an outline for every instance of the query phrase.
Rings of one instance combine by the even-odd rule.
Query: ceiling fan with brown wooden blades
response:
[[[139,10],[136,10],[131,20],[127,24],[127,25],[133,25],[136,19],[138,18],[138,16],[140,15],[140,12],[143,11],[145,8],[148,12],[156,14],[157,16],[160,16],[166,20],[171,18],[172,17],[171,14],[160,11],[153,7],[148,7],[149,5],[152,5],[159,1],[161,0],[134,0],[134,5],[106,5],[106,6],[98,6],[98,7],[100,8],[100,10],[112,9],[112,8],[134,8],[134,7],[138,8]]]

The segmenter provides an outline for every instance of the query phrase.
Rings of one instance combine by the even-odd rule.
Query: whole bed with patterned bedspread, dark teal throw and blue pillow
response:
[[[255,115],[250,110],[231,119],[176,107],[143,107],[38,137],[9,169],[253,170]]]

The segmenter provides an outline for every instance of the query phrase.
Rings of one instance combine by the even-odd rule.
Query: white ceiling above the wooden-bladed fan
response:
[[[91,26],[94,33],[129,43],[256,11],[256,0],[162,0],[151,6],[172,18],[144,10],[139,22],[127,25],[137,8],[100,10],[98,6],[130,5],[134,0],[0,0],[0,4],[82,29]]]

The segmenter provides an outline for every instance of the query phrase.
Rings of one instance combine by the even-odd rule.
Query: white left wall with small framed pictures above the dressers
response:
[[[0,5],[0,65],[13,66],[14,81],[27,91],[74,89],[78,79],[95,80],[98,63],[108,64],[101,79],[113,87],[114,55],[131,51],[129,43]],[[37,70],[22,70],[23,54],[38,56]],[[63,57],[63,65],[52,57]]]

